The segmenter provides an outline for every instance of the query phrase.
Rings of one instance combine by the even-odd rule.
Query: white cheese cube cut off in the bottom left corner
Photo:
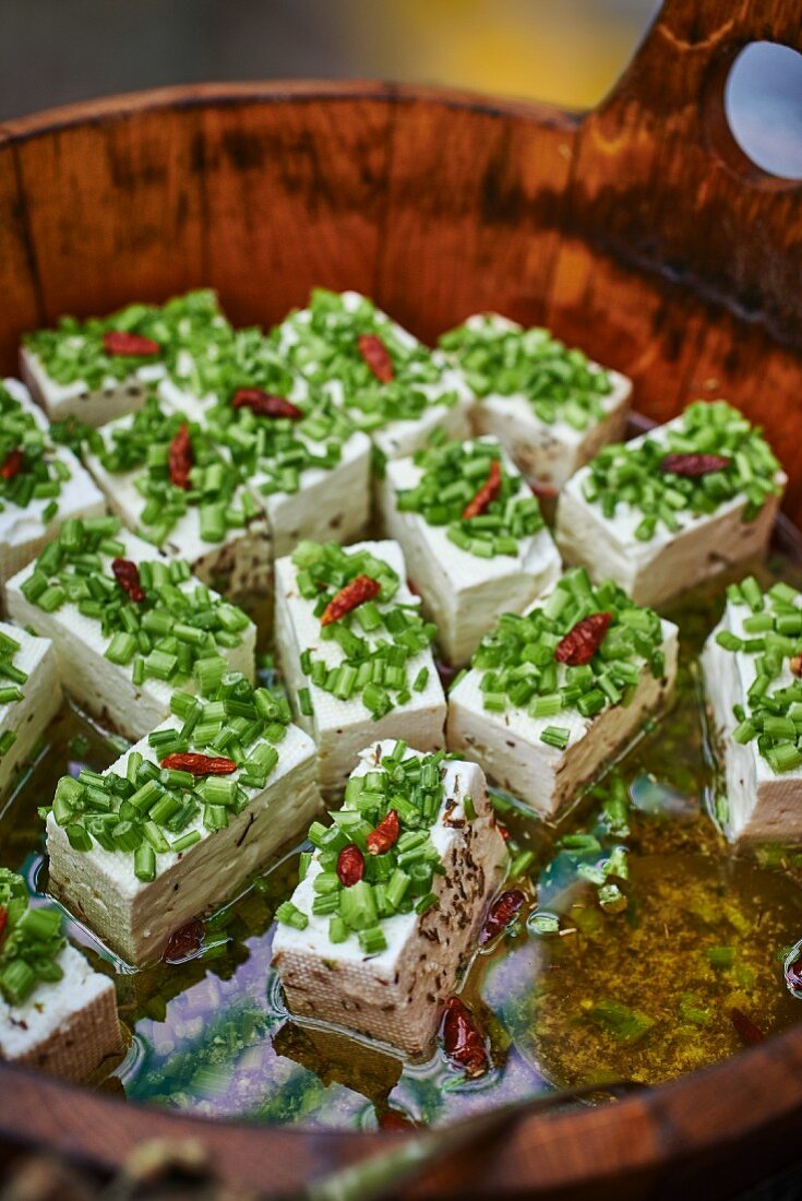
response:
[[[73,946],[58,963],[61,980],[41,982],[22,1005],[0,997],[0,1059],[82,1082],[122,1051],[114,981]]]

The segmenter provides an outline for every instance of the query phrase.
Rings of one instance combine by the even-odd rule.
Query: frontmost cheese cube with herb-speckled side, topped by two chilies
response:
[[[384,741],[363,751],[354,775],[375,771],[393,747]],[[322,871],[313,858],[292,898],[309,925],[280,925],[273,942],[273,962],[293,1015],[347,1027],[409,1056],[431,1046],[442,1004],[474,950],[508,861],[480,769],[445,760],[442,770],[444,803],[431,827],[445,867],[443,876],[433,877],[438,903],[423,915],[413,909],[382,921],[387,949],[378,954],[366,955],[354,933],[333,943],[329,918],[312,913],[315,879]],[[466,796],[475,809],[472,819],[465,812]]]

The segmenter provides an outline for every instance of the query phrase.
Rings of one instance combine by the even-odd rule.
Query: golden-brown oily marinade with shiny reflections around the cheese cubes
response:
[[[802,570],[779,556],[761,574],[802,584]],[[291,1020],[270,969],[271,916],[297,878],[291,853],[208,919],[180,963],[132,970],[70,921],[92,962],[115,976],[132,1034],[100,1087],[265,1123],[429,1125],[553,1087],[657,1083],[704,1066],[743,1046],[734,1010],[764,1034],[802,1018],[783,975],[784,955],[802,938],[802,855],[735,856],[711,815],[718,782],[696,661],[723,596],[718,581],[666,610],[681,627],[677,694],[617,765],[623,789],[608,773],[557,827],[499,797],[510,844],[534,858],[519,920],[477,956],[463,990],[490,1039],[486,1076],[463,1080],[439,1048],[405,1064]],[[37,806],[64,771],[102,769],[119,751],[68,706],[48,731],[0,814],[0,864],[22,870],[32,891],[47,886]],[[616,789],[629,807],[611,821],[605,801]],[[628,877],[615,877],[620,895],[603,908],[599,870],[611,854]]]

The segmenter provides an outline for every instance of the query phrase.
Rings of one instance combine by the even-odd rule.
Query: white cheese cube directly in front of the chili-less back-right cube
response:
[[[520,479],[505,455],[502,465],[504,474]],[[448,537],[448,526],[429,525],[421,513],[399,510],[399,492],[415,488],[423,474],[424,468],[412,459],[388,462],[382,516],[388,534],[401,544],[409,579],[437,626],[445,658],[461,667],[502,613],[520,613],[556,581],[559,554],[545,527],[520,538],[515,555],[485,558],[462,550]],[[522,480],[515,495],[531,496]]]

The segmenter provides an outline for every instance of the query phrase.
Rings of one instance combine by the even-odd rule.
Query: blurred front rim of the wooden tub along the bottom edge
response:
[[[748,1183],[744,1149],[753,1140],[755,1177],[768,1165],[792,1163],[800,1147],[790,1135],[798,1134],[800,1122],[802,1032],[791,1030],[648,1093],[521,1121],[492,1145],[492,1154],[480,1143],[461,1153],[457,1163],[430,1171],[405,1195],[439,1201],[508,1197],[526,1188],[533,1197],[556,1189],[569,1189],[571,1196],[593,1189],[599,1197],[605,1195],[598,1191],[600,1182],[618,1179],[620,1187],[626,1172],[644,1187],[658,1177],[662,1188],[684,1179],[689,1196],[725,1196]],[[774,1137],[765,1141],[770,1128]],[[713,1129],[719,1131],[714,1137]],[[143,1141],[194,1140],[227,1184],[274,1196],[307,1187],[406,1137],[211,1121],[90,1093],[26,1069],[0,1069],[0,1142],[48,1146],[103,1172],[119,1170]],[[736,1149],[734,1179],[728,1164]],[[265,1163],[270,1164],[267,1190]]]

